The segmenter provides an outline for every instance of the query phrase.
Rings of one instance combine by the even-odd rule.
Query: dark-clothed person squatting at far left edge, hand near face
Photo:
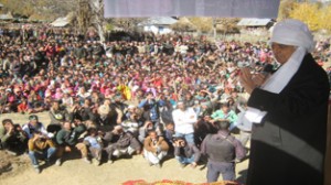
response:
[[[13,155],[24,153],[28,137],[20,124],[14,124],[11,119],[2,120],[0,128],[0,149],[7,150]]]

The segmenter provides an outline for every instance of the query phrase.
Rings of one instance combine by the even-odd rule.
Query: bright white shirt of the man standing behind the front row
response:
[[[174,122],[174,131],[178,133],[193,133],[193,124],[197,121],[196,113],[193,108],[188,108],[185,111],[175,109],[172,111]]]

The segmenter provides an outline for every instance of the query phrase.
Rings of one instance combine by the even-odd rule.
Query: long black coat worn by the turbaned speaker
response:
[[[322,185],[329,81],[310,54],[280,94],[254,89],[248,106],[268,113],[253,126],[247,185]]]

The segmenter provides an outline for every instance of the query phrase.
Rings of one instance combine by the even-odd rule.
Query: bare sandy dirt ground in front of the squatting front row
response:
[[[50,122],[47,113],[39,113],[40,121]],[[25,123],[28,115],[0,115],[0,120],[12,119],[15,123]],[[1,166],[2,171],[1,171]],[[248,160],[236,166],[237,179],[245,182]],[[127,181],[145,179],[156,182],[161,179],[205,183],[206,167],[201,164],[196,168],[181,168],[174,159],[164,161],[162,168],[149,166],[142,155],[132,159],[120,159],[113,164],[103,163],[100,166],[83,162],[78,156],[64,161],[62,166],[49,166],[36,174],[30,164],[29,156],[12,156],[0,152],[0,185],[120,185]],[[220,177],[222,179],[222,177]]]

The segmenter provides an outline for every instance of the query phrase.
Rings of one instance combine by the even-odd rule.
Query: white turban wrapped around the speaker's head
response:
[[[307,24],[299,20],[288,19],[277,23],[273,31],[270,43],[301,46],[307,52],[314,50],[313,35]]]

